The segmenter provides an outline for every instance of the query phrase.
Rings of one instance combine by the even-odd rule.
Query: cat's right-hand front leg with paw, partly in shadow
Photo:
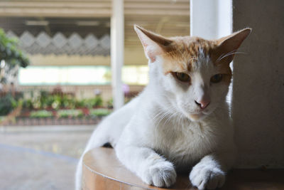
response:
[[[190,181],[198,189],[216,189],[223,186],[225,174],[234,163],[234,152],[209,154],[190,172]]]

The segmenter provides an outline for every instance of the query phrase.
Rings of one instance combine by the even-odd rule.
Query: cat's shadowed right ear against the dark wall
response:
[[[249,36],[251,28],[244,28],[241,31],[232,33],[229,36],[217,40],[217,62],[231,63],[241,43]]]

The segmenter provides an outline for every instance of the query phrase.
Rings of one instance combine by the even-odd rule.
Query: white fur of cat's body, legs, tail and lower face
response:
[[[173,75],[164,75],[163,58],[157,56],[149,63],[149,85],[94,130],[84,153],[110,142],[120,162],[147,184],[168,187],[175,183],[176,170],[192,169],[190,181],[199,189],[222,186],[225,172],[234,162],[233,128],[226,104],[228,85],[210,84],[217,70],[200,52],[190,73],[190,86]],[[195,100],[204,95],[211,102],[200,112]],[[77,189],[81,177],[82,158],[77,167]]]

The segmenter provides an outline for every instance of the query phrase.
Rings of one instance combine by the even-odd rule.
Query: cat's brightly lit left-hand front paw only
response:
[[[143,172],[141,178],[146,184],[169,187],[175,183],[177,174],[173,164],[167,161],[157,162]]]

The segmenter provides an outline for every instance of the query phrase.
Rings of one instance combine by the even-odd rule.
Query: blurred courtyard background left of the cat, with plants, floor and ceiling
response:
[[[124,102],[148,83],[133,24],[190,35],[190,0],[126,0],[124,46],[116,49],[124,59],[111,67],[113,6],[111,0],[0,1],[0,189],[73,189],[87,139],[114,110],[114,69]]]

